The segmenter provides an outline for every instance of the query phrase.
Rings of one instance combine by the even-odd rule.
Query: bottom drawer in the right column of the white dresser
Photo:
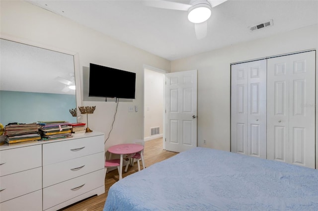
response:
[[[47,210],[104,184],[104,169],[43,189],[43,210]]]

